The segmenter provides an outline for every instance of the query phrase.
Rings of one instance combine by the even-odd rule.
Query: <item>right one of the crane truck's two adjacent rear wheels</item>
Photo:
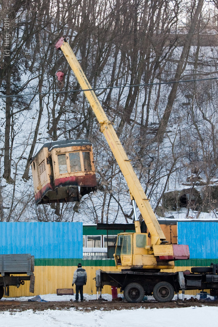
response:
[[[153,289],[153,296],[158,302],[169,302],[175,294],[173,286],[168,282],[159,282]]]

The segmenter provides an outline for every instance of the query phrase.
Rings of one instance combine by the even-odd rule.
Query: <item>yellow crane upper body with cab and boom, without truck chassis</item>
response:
[[[81,89],[84,90],[100,124],[100,131],[104,134],[129,188],[135,215],[135,233],[118,234],[114,255],[117,269],[169,269],[174,267],[174,260],[189,259],[187,245],[166,244],[165,235],[113,128],[113,123],[106,116],[66,39],[62,37],[56,44],[56,48],[62,50]],[[151,234],[151,245],[147,245],[148,234],[141,233],[136,204]]]

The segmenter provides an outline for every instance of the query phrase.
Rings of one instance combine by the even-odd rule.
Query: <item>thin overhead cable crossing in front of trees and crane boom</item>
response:
[[[169,82],[156,82],[156,83],[145,83],[145,84],[134,84],[134,85],[121,85],[121,86],[108,86],[108,87],[96,87],[93,89],[86,90],[66,90],[66,91],[54,91],[54,92],[39,92],[39,93],[24,93],[24,94],[12,94],[12,95],[0,95],[0,98],[8,97],[18,97],[18,96],[27,96],[27,95],[46,95],[46,94],[61,94],[61,93],[75,93],[75,92],[84,92],[84,91],[100,91],[100,90],[110,90],[110,89],[121,89],[125,87],[136,87],[136,86],[150,86],[150,85],[166,85],[166,84],[175,84],[175,83],[188,83],[188,82],[198,82],[198,81],[208,81],[212,79],[218,79],[218,77],[210,78],[198,78],[198,79],[186,79],[179,81],[169,81]]]

